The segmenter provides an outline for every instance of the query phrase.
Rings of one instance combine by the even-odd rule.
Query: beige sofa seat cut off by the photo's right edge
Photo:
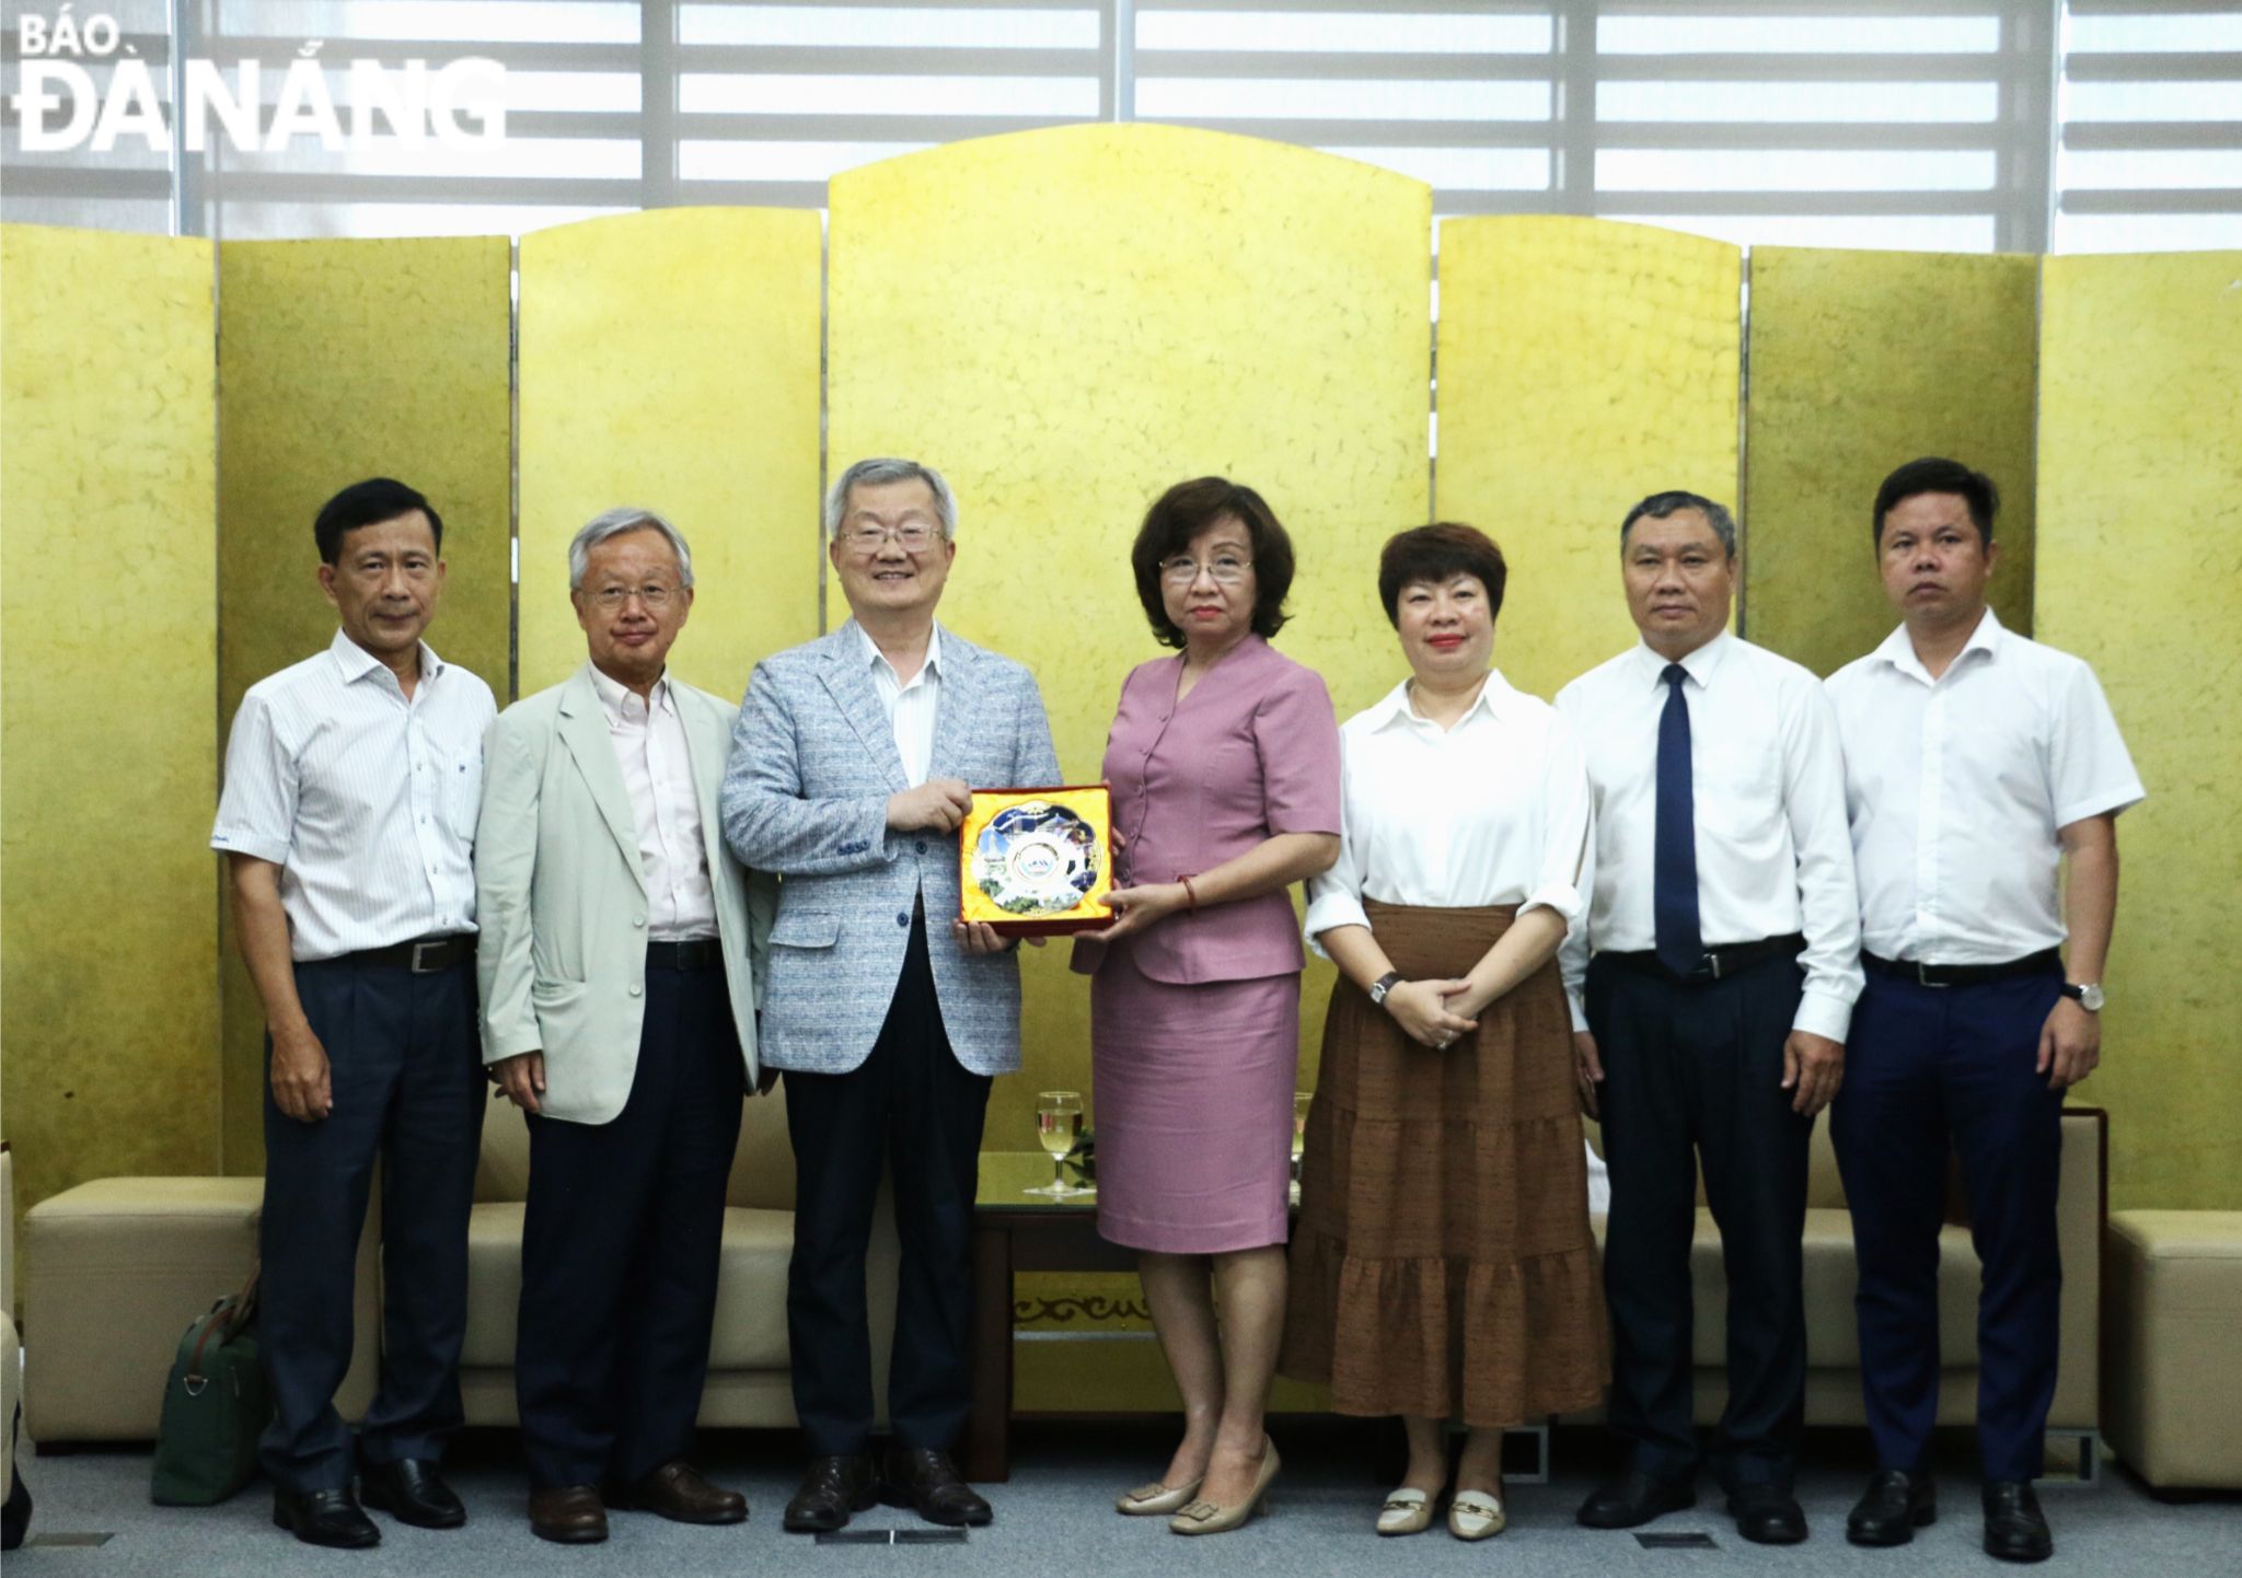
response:
[[[2157,1491],[2242,1488],[2242,1210],[2110,1217],[2110,1446]]]

